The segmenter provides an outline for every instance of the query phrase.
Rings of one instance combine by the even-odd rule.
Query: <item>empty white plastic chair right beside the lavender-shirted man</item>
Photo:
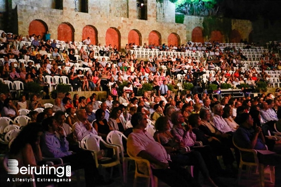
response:
[[[97,159],[97,156],[100,153],[100,147],[99,147],[100,142],[102,142],[102,144],[105,147],[111,148],[114,150],[112,158],[103,157],[101,159]],[[101,171],[100,171],[101,174],[105,175],[104,168],[111,167],[110,178],[112,178],[113,166],[117,165],[119,167],[120,177],[122,177],[122,168],[121,168],[120,158],[119,158],[119,147],[117,147],[115,145],[109,145],[98,135],[87,135],[87,136],[83,137],[83,139],[80,141],[80,147],[82,149],[89,150],[94,154],[95,165],[97,168],[101,169]],[[102,159],[112,159],[112,161],[109,163],[99,163],[98,160],[102,160]]]

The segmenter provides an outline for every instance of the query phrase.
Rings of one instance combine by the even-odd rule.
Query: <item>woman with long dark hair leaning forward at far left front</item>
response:
[[[38,162],[42,161],[42,153],[40,149],[40,136],[43,134],[42,127],[38,123],[30,123],[26,125],[21,133],[15,138],[13,143],[11,144],[11,148],[9,151],[9,159],[18,160],[18,167],[36,167],[36,171],[41,170]],[[58,167],[58,165],[54,165],[54,167]],[[52,171],[52,170],[51,170]],[[46,178],[46,179],[64,179],[62,182],[58,183],[59,187],[70,187],[69,182],[65,180],[68,177],[64,175],[63,177],[58,177],[56,174],[40,174],[35,175],[34,177],[36,186],[46,186],[47,182],[40,182],[37,178]],[[53,182],[54,183],[54,182]],[[26,184],[30,185],[30,184]]]

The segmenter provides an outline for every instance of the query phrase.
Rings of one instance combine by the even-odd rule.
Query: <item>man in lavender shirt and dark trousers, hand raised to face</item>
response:
[[[70,164],[72,170],[84,168],[86,186],[93,187],[94,176],[96,179],[99,179],[99,176],[91,152],[81,150],[73,154],[68,151],[68,141],[65,139],[63,129],[53,116],[44,119],[42,126],[45,130],[41,142],[43,157],[61,158],[63,163]]]

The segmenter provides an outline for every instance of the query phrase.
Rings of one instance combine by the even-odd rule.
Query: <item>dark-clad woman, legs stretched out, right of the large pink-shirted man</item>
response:
[[[207,166],[197,151],[187,152],[184,147],[174,138],[170,133],[170,123],[168,117],[161,116],[155,123],[156,133],[154,138],[156,142],[163,145],[165,150],[171,156],[171,160],[182,166],[194,165],[194,176],[198,180],[199,171],[201,171],[203,177],[208,180],[212,187],[217,187],[214,181],[210,178]]]

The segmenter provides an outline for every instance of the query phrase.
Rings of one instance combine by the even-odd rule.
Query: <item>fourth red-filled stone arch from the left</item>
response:
[[[117,46],[118,50],[121,50],[121,33],[118,28],[110,27],[106,30],[105,34],[105,44],[112,47]]]

